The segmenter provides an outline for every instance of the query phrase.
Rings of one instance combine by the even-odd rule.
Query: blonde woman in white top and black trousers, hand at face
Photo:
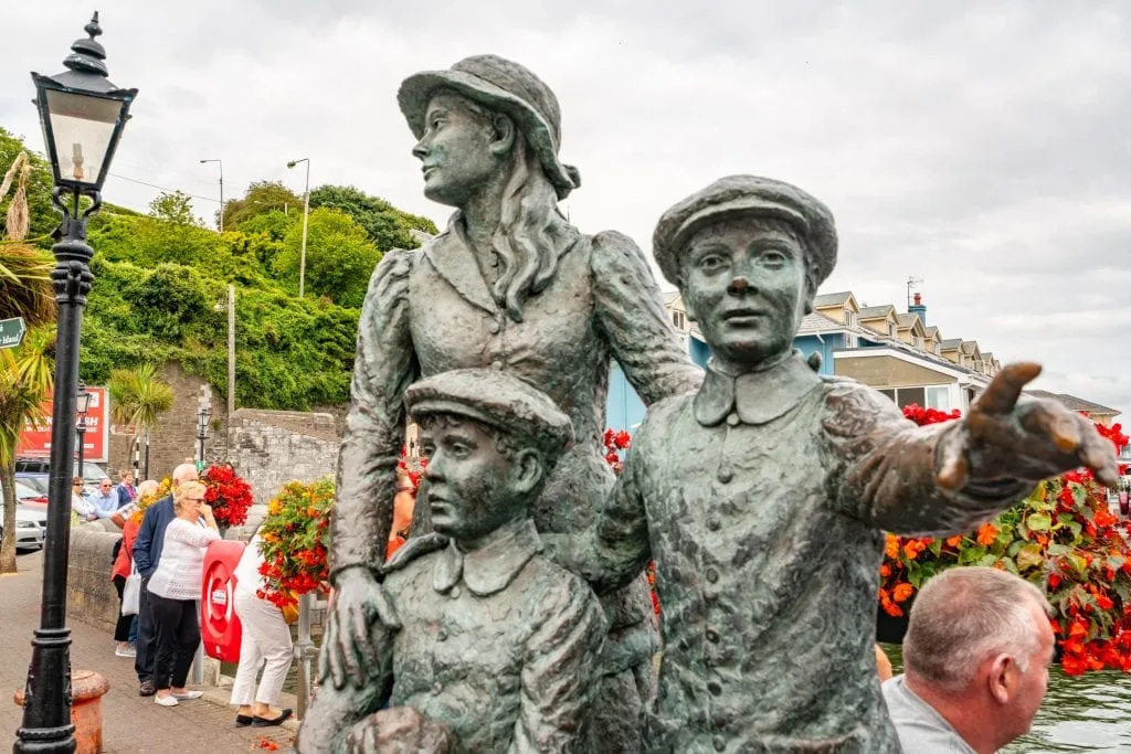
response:
[[[178,700],[201,695],[199,691],[188,691],[184,682],[200,643],[197,600],[204,579],[205,549],[208,543],[219,539],[211,506],[205,503],[205,491],[199,482],[185,482],[173,493],[176,518],[165,529],[161,562],[149,579],[149,609],[157,629],[155,701],[162,707],[175,707]]]

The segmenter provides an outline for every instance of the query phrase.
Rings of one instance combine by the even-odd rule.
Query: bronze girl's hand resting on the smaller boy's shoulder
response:
[[[319,657],[319,677],[322,683],[329,678],[335,688],[343,688],[347,682],[361,688],[369,681],[370,669],[378,667],[377,648],[371,636],[373,623],[396,630],[400,627],[400,619],[369,569],[346,569],[335,581],[334,604]]]

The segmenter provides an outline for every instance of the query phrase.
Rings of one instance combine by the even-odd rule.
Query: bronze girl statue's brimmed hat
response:
[[[451,89],[491,110],[510,115],[538,156],[558,198],[581,185],[581,174],[558,159],[561,109],[545,81],[528,68],[498,55],[464,58],[446,71],[423,71],[400,84],[397,103],[417,139],[424,133],[428,103],[437,89]]]

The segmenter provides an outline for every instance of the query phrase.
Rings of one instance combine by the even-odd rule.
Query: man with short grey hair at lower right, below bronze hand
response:
[[[1051,609],[1039,589],[996,569],[929,581],[912,607],[904,674],[883,684],[904,751],[991,754],[1028,733],[1053,661]]]

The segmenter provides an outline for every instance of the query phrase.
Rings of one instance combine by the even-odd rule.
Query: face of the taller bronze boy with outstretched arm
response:
[[[682,265],[688,315],[724,366],[757,366],[792,348],[810,294],[804,249],[787,225],[720,220],[691,237]]]

